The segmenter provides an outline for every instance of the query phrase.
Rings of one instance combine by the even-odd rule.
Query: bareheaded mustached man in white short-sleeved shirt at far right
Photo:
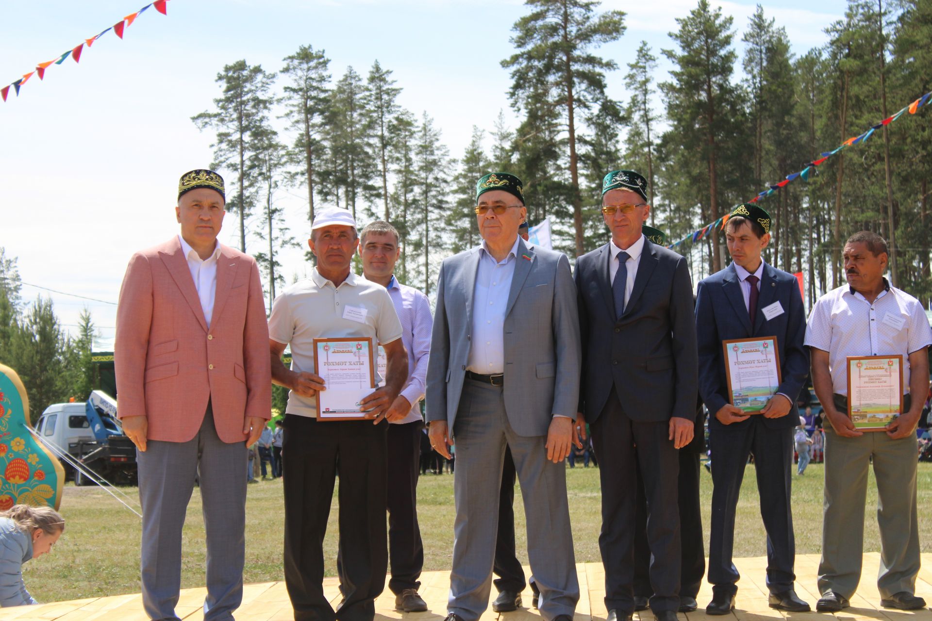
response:
[[[877,479],[881,562],[877,588],[884,608],[925,607],[916,597],[919,532],[915,429],[929,388],[927,349],[932,330],[919,301],[884,278],[884,238],[861,231],[844,245],[848,284],[813,306],[805,344],[825,425],[825,509],[816,610],[849,605],[861,575],[868,468]],[[903,357],[904,412],[885,431],[864,433],[848,417],[848,356]],[[911,399],[911,396],[915,398]]]

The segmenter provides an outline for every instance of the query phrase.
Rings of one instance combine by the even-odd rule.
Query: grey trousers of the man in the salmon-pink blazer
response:
[[[246,552],[246,442],[217,436],[211,405],[187,442],[149,440],[136,452],[143,506],[143,607],[150,619],[175,621],[181,588],[181,540],[196,477],[207,531],[205,621],[233,618],[242,601]]]

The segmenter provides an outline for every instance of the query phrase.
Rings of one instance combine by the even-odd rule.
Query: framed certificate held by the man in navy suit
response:
[[[780,353],[776,337],[721,342],[728,396],[746,414],[760,414],[780,387]]]

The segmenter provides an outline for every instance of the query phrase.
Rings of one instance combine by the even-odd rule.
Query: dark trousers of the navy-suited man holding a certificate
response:
[[[792,416],[790,413],[788,416]],[[761,415],[735,425],[710,425],[712,457],[712,528],[708,549],[708,581],[715,594],[737,592],[737,568],[732,562],[734,513],[745,476],[747,456],[754,455],[761,518],[767,531],[766,584],[771,593],[793,587],[796,542],[790,485],[793,466],[793,429],[771,429]]]

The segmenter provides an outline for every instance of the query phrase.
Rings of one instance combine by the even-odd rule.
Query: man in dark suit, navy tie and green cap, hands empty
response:
[[[651,610],[676,621],[679,607],[678,450],[693,435],[696,332],[686,260],[641,233],[646,189],[632,170],[605,176],[611,239],[577,259],[574,275],[583,341],[576,425],[590,423],[598,457],[607,621],[630,620],[635,609],[637,468],[649,507]]]

